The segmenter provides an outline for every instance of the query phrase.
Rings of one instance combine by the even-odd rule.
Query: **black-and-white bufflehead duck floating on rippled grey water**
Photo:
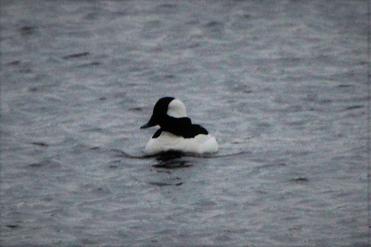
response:
[[[159,125],[155,134],[145,146],[147,154],[166,151],[185,153],[215,153],[218,143],[214,136],[198,124],[192,124],[182,101],[164,97],[157,101],[148,123],[141,128]]]

